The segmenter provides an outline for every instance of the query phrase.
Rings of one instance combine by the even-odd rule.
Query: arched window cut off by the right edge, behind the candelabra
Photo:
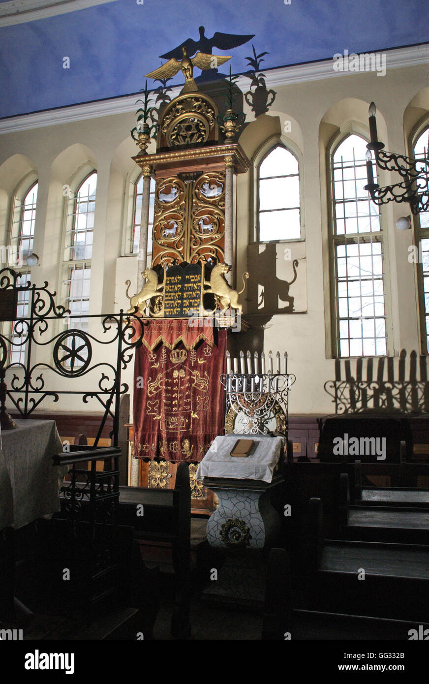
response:
[[[414,144],[415,159],[429,159],[429,126],[421,131]],[[419,170],[425,170],[426,164],[419,164]],[[429,181],[429,179],[428,179]],[[427,197],[423,200],[427,201]],[[417,276],[419,282],[421,351],[429,353],[429,211],[421,211],[414,217],[416,241],[419,244]]]

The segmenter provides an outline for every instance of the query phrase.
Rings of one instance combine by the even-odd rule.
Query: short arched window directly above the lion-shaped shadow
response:
[[[258,168],[259,242],[301,237],[298,159],[283,145],[265,155]]]

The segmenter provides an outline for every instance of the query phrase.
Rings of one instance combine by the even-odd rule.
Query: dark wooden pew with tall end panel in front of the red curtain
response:
[[[177,578],[171,633],[190,636],[191,492],[187,464],[179,464],[174,489],[120,486],[118,522],[132,525],[139,541],[171,544]]]

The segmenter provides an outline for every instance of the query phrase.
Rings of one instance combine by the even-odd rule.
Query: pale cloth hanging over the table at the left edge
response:
[[[53,466],[62,451],[55,421],[15,421],[3,430],[0,449],[0,529],[16,529],[60,510],[60,486],[67,467]]]

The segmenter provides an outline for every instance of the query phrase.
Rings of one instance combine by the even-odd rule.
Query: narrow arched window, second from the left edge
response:
[[[81,315],[70,319],[69,327],[81,330],[88,330],[96,184],[97,174],[93,171],[83,179],[68,203],[72,211],[67,217],[64,248],[65,300],[71,315]]]

